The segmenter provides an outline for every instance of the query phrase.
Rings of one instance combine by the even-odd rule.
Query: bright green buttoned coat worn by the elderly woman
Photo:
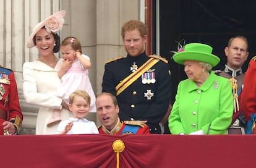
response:
[[[204,134],[226,134],[233,116],[233,94],[227,78],[210,72],[200,88],[186,79],[179,83],[169,115],[172,134],[203,130]]]

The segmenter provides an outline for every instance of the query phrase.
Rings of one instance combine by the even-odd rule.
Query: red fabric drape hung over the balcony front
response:
[[[1,167],[251,167],[256,135],[1,136]]]

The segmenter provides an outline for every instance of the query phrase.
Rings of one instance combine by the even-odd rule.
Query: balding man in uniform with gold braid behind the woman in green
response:
[[[224,52],[227,57],[227,64],[224,70],[218,71],[217,73],[224,78],[229,78],[233,88],[234,112],[228,134],[244,134],[246,121],[239,107],[239,96],[245,76],[242,72],[242,65],[249,55],[247,39],[244,36],[236,36],[229,39],[228,46],[226,46]]]

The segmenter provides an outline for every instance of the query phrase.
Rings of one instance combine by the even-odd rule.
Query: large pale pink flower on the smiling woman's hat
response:
[[[59,30],[62,29],[64,23],[64,19],[62,15],[53,15],[53,17],[49,18],[45,22],[45,28],[48,33],[58,33]]]

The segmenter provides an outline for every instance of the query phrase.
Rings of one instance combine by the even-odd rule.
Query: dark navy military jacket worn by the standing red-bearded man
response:
[[[137,57],[127,56],[105,65],[103,92],[116,95],[115,87],[132,73],[132,69],[143,65],[150,57],[145,52]],[[149,74],[150,73],[150,74]],[[143,84],[143,78],[151,75],[155,82]],[[153,75],[153,77],[152,77]],[[161,133],[159,123],[169,106],[171,98],[171,74],[166,62],[158,61],[142,77],[139,77],[117,96],[121,120],[148,120],[150,133]]]

